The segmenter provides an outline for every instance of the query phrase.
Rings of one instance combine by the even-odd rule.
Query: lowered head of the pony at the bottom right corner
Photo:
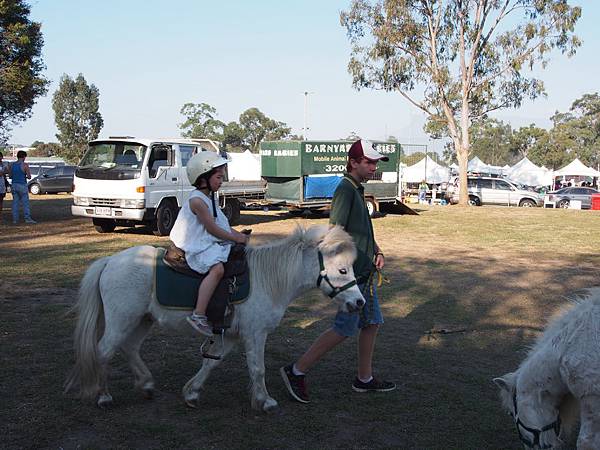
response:
[[[519,439],[528,449],[550,449],[562,445],[560,404],[556,395],[535,383],[523,382],[518,372],[494,378],[502,405],[512,416]]]

